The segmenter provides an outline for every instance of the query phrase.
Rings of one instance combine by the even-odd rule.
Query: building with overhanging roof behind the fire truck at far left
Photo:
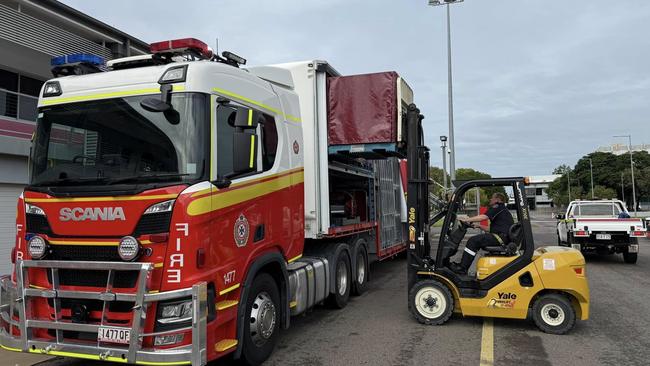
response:
[[[89,53],[106,60],[149,53],[149,45],[55,0],[0,0],[0,274],[11,270],[16,201],[52,57]]]

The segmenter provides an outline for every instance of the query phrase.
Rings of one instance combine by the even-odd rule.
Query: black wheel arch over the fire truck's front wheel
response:
[[[271,252],[257,258],[248,268],[244,285],[241,289],[241,296],[239,300],[239,307],[237,309],[237,349],[234,352],[234,357],[237,359],[241,356],[244,346],[244,317],[246,315],[246,304],[248,296],[250,296],[250,288],[253,285],[253,280],[260,273],[267,273],[275,280],[278,290],[280,290],[280,307],[282,311],[282,328],[289,327],[291,313],[289,311],[289,275],[287,272],[287,264],[279,252]]]

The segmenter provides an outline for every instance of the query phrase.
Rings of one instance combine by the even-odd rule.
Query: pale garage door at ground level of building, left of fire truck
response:
[[[16,203],[23,186],[0,184],[0,274],[11,272],[11,249],[16,240]]]

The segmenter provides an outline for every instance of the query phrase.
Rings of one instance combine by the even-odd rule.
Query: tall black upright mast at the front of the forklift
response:
[[[429,242],[429,148],[424,145],[420,110],[411,104],[406,114],[408,185],[408,288],[417,280],[420,268],[432,266]]]

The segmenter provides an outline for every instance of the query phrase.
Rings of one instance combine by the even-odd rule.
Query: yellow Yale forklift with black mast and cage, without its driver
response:
[[[408,134],[408,304],[418,322],[441,325],[456,312],[463,316],[526,319],[552,334],[570,331],[589,317],[589,286],[580,251],[558,247],[535,249],[524,178],[475,180],[461,184],[445,207],[429,216],[429,151],[423,142],[422,115],[407,112]],[[511,187],[517,220],[502,245],[484,248],[475,276],[449,268],[470,228],[458,219],[463,196],[482,187]],[[444,220],[437,246],[429,230]],[[432,250],[433,249],[433,250]]]

